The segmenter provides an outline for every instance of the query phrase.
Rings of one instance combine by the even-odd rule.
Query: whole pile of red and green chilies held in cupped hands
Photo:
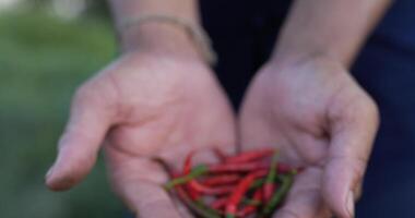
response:
[[[192,165],[186,157],[181,172],[165,184],[197,216],[202,218],[271,217],[290,189],[297,169],[278,161],[274,149],[226,156],[214,165]]]

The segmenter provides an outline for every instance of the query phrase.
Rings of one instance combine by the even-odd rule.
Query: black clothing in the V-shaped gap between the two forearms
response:
[[[281,2],[200,1],[203,25],[218,55],[215,70],[235,108],[250,78],[272,51],[290,1]]]

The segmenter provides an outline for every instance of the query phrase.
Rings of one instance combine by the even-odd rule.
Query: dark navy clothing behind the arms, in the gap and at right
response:
[[[237,109],[250,78],[270,56],[290,1],[200,2],[204,26],[220,57],[217,76]],[[395,1],[352,73],[381,112],[356,217],[414,218],[415,1]]]

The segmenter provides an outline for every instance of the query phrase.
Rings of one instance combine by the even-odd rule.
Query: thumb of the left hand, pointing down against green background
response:
[[[67,190],[79,183],[95,164],[114,111],[106,99],[85,88],[75,95],[58,156],[46,175],[49,189]]]

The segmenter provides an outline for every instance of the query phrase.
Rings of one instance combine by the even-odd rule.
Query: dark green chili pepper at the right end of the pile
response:
[[[281,180],[281,186],[276,192],[272,195],[271,199],[266,203],[262,210],[262,215],[270,215],[274,208],[283,201],[289,187],[293,184],[293,174],[278,175],[278,180]]]

